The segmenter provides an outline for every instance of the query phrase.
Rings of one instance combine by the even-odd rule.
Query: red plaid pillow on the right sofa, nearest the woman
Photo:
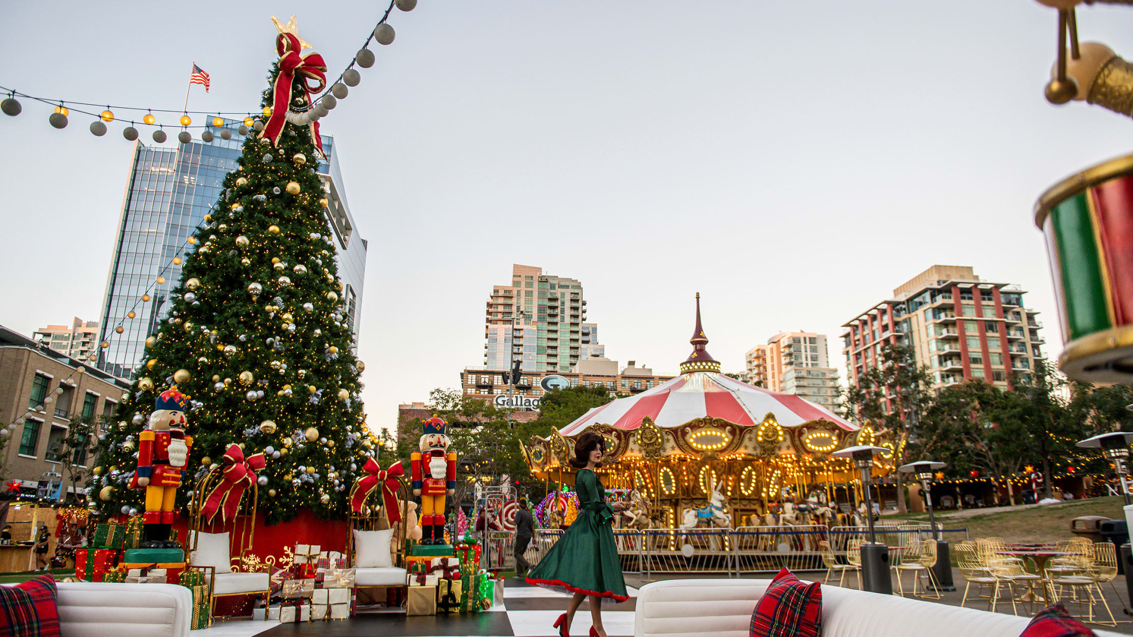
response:
[[[803,584],[783,569],[751,613],[751,637],[819,637],[823,632],[823,589]]]

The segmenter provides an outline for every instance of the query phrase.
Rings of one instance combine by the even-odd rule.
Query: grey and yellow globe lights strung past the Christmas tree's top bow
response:
[[[387,24],[390,14],[393,8],[397,7],[402,11],[411,11],[417,7],[417,0],[391,0],[390,6],[386,7],[385,12],[382,15],[382,19],[377,22],[377,25],[369,32],[366,36],[366,42],[363,43],[361,49],[355,53],[355,57],[347,65],[346,69],[339,74],[338,79],[330,85],[330,87],[320,96],[312,100],[310,107],[306,112],[301,113],[288,113],[288,120],[291,124],[298,126],[306,126],[318,121],[321,118],[326,117],[331,109],[338,105],[338,101],[342,100],[350,92],[350,86],[357,86],[361,82],[361,74],[355,68],[355,66],[361,68],[369,68],[374,66],[375,57],[374,52],[369,50],[370,41],[376,41],[378,44],[389,45],[393,43],[395,32],[393,27]],[[107,124],[112,121],[129,121],[129,126],[122,129],[122,137],[127,141],[135,141],[138,138],[137,126],[156,126],[156,130],[153,131],[151,137],[154,142],[161,144],[168,138],[164,127],[180,128],[181,131],[178,133],[177,139],[182,144],[188,144],[193,141],[193,135],[189,133],[190,128],[201,128],[201,139],[205,143],[211,143],[215,135],[212,129],[220,129],[220,137],[222,139],[230,139],[232,137],[232,131],[229,126],[237,124],[239,119],[242,119],[242,124],[239,124],[238,133],[240,135],[247,135],[250,128],[255,128],[257,131],[263,128],[263,122],[256,120],[256,116],[259,113],[254,113],[252,111],[189,111],[189,110],[173,110],[173,109],[152,109],[142,107],[123,107],[123,105],[110,105],[101,112],[95,112],[93,110],[84,110],[76,107],[101,107],[99,102],[82,102],[77,100],[54,100],[50,97],[41,97],[36,95],[31,95],[27,93],[22,93],[14,88],[7,86],[0,86],[0,95],[7,94],[8,96],[0,101],[0,112],[7,116],[16,117],[23,112],[23,104],[19,103],[20,99],[32,100],[36,102],[42,102],[48,105],[53,105],[53,112],[48,117],[48,122],[54,128],[66,128],[69,122],[69,116],[71,111],[88,114],[94,118],[91,122],[90,129],[91,134],[96,137],[102,137],[107,134]],[[116,114],[114,111],[127,111],[129,113],[137,113],[140,117],[121,117]],[[142,113],[145,114],[142,114]],[[153,114],[159,113],[181,113],[177,124],[160,124],[157,118]],[[271,107],[264,107],[262,111],[264,117],[271,117]],[[225,119],[223,116],[237,116],[236,118]],[[208,124],[193,124],[193,117],[190,116],[202,116],[204,118],[212,117],[212,121]]]

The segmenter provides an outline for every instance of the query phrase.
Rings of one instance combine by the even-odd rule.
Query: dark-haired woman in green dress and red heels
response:
[[[614,511],[625,510],[627,506],[624,502],[614,502],[613,507],[606,503],[606,489],[594,473],[595,467],[602,466],[605,450],[606,443],[600,435],[587,432],[579,436],[574,457],[570,459],[571,466],[579,469],[574,476],[578,517],[527,576],[531,584],[573,594],[566,612],[554,623],[560,637],[569,637],[574,611],[586,597],[590,598],[590,637],[606,637],[602,627],[603,598],[619,603],[629,600],[611,528]]]

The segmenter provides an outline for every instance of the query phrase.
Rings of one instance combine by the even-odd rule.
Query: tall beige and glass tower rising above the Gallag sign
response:
[[[546,274],[531,265],[512,265],[511,284],[494,286],[484,326],[484,368],[569,372],[579,360],[603,358],[598,326],[586,321],[582,284]]]

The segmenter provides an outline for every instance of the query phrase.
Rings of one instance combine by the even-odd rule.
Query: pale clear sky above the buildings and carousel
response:
[[[381,5],[381,6],[380,6]],[[377,2],[8,2],[0,86],[85,102],[254,110],[270,16],[333,75]],[[235,8],[233,8],[235,7]],[[317,8],[316,8],[317,7]],[[323,130],[369,253],[359,357],[372,427],[483,363],[511,264],[579,279],[608,357],[675,373],[693,295],[724,371],[772,334],[830,337],[934,263],[1020,283],[1062,349],[1032,206],[1124,154],[1130,121],[1042,97],[1056,18],[1033,0],[420,0],[394,10]],[[1133,11],[1083,41],[1133,56]],[[0,324],[99,320],[131,144],[24,100],[0,117]],[[172,137],[172,136],[171,136]],[[170,143],[167,145],[171,146]],[[844,373],[843,373],[844,376]]]

